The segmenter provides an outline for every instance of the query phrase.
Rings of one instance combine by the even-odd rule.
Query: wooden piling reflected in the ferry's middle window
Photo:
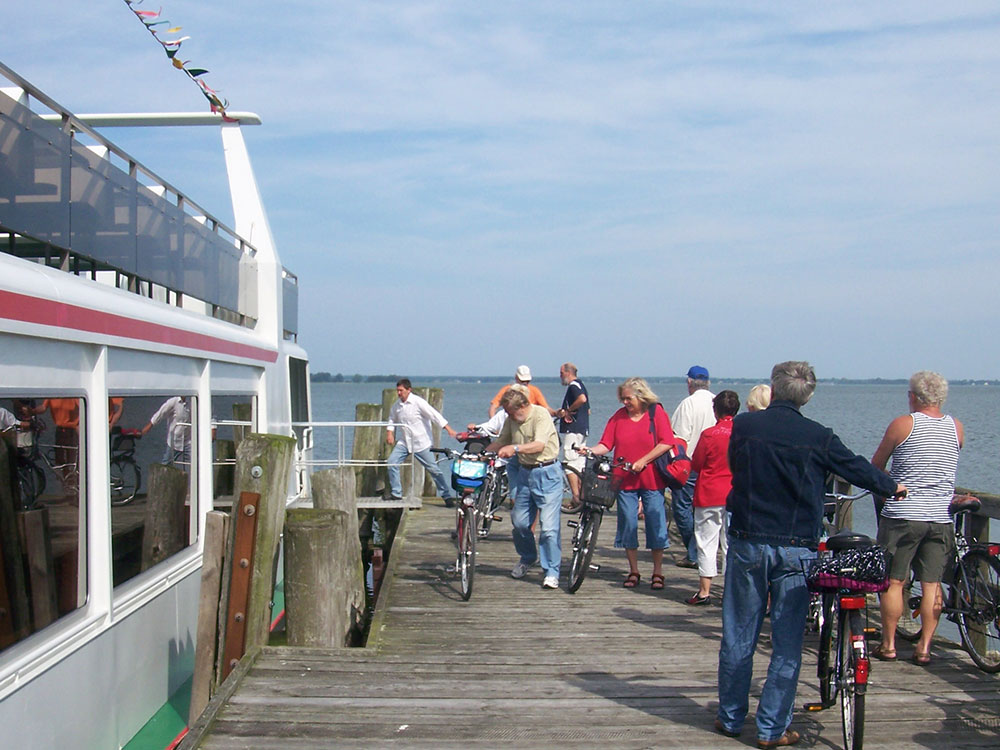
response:
[[[184,499],[190,476],[174,466],[150,464],[146,519],[142,531],[142,570],[187,546],[187,513]]]

